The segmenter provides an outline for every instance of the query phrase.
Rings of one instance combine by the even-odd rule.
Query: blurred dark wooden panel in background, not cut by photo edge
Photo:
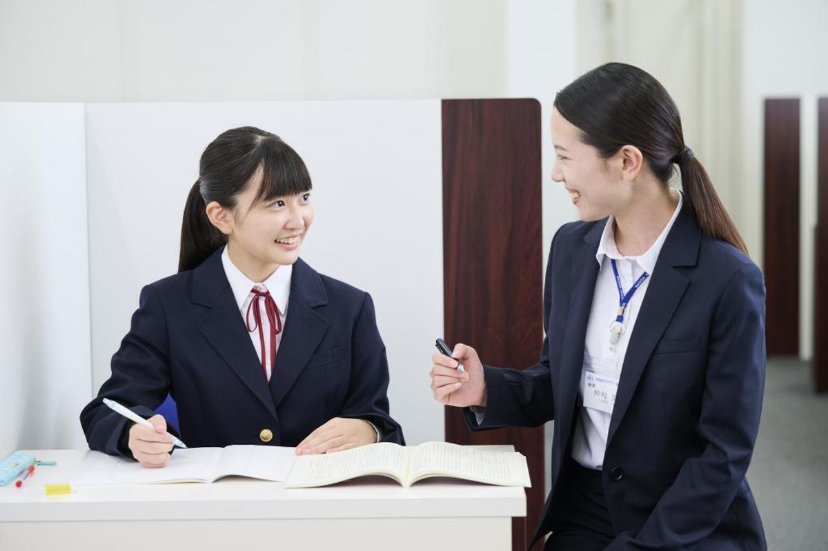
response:
[[[799,99],[765,100],[768,356],[799,354]]]

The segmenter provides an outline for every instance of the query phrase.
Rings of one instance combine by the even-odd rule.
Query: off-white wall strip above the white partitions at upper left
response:
[[[522,3],[0,0],[0,67],[11,77],[0,94],[22,101],[499,97],[504,20]]]

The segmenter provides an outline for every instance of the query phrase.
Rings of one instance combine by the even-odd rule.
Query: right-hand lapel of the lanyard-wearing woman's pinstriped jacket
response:
[[[647,295],[644,296],[638,320],[629,338],[612,419],[609,422],[608,447],[633,399],[644,367],[689,285],[686,275],[676,270],[676,267],[695,266],[700,243],[699,224],[685,202],[658,255],[656,268],[647,287]]]

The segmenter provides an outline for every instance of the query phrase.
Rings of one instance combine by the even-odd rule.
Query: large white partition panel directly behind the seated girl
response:
[[[373,296],[407,441],[443,438],[428,371],[443,331],[440,101],[87,106],[94,389],[142,285],[176,271],[181,214],[220,132],[274,132],[306,161],[315,222],[302,257]]]

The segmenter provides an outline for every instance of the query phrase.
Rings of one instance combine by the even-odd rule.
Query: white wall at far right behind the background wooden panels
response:
[[[814,228],[816,227],[816,98],[828,97],[828,2],[745,2],[741,103],[744,237],[761,259],[763,245],[764,99],[801,98],[800,106],[800,356],[813,353]],[[741,228],[741,227],[740,227]],[[823,336],[822,338],[826,338]]]

